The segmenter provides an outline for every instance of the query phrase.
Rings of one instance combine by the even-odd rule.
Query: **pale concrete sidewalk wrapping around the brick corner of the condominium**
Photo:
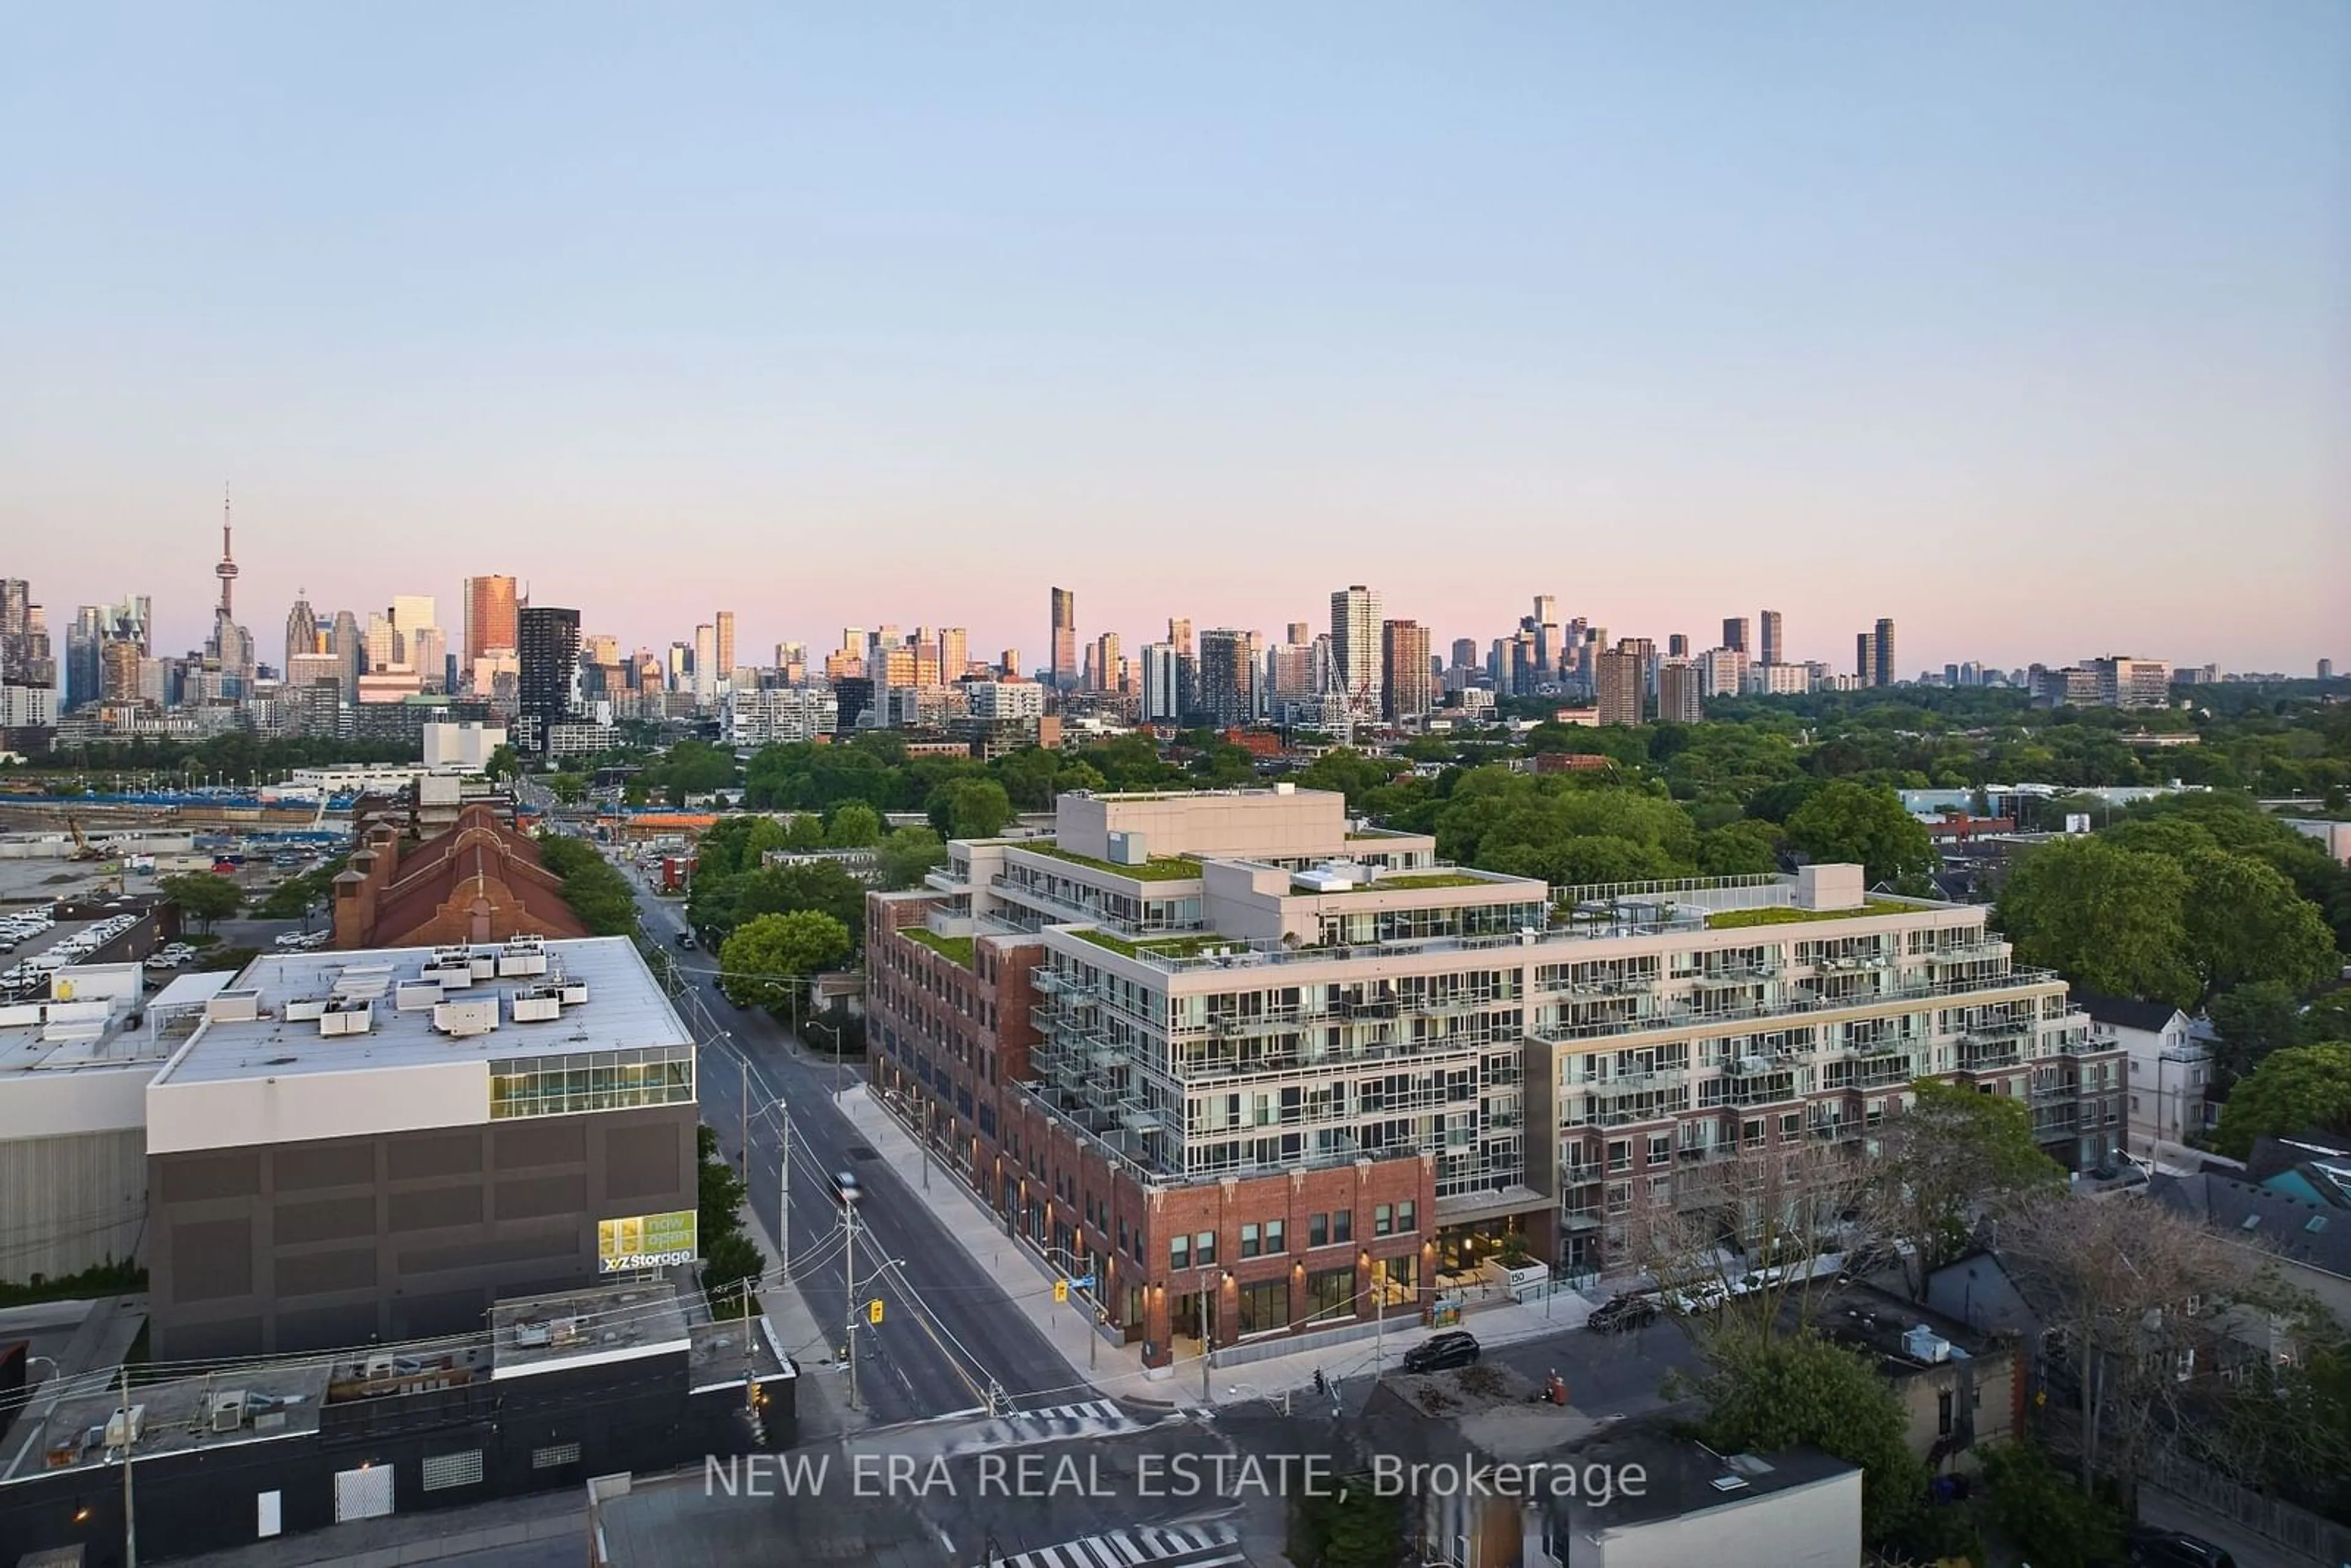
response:
[[[1004,1220],[976,1192],[964,1187],[950,1168],[933,1168],[929,1187],[924,1187],[919,1171],[926,1154],[922,1145],[863,1084],[835,1095],[835,1105],[839,1105],[842,1114],[858,1128],[858,1135],[891,1168],[905,1173],[915,1199],[938,1215],[940,1227],[997,1281],[1004,1295],[1011,1298],[1013,1309],[1027,1316],[1037,1326],[1037,1333],[1060,1352],[1072,1375],[1091,1382],[1107,1399],[1140,1399],[1178,1408],[1248,1403],[1312,1387],[1317,1371],[1333,1382],[1392,1371],[1406,1349],[1436,1333],[1422,1328],[1415,1316],[1404,1316],[1401,1321],[1389,1319],[1366,1338],[1326,1338],[1300,1345],[1293,1352],[1265,1354],[1281,1340],[1258,1340],[1253,1345],[1218,1349],[1215,1361],[1208,1366],[1206,1396],[1201,1394],[1201,1363],[1197,1354],[1178,1354],[1173,1368],[1145,1368],[1138,1345],[1103,1338],[1091,1352],[1096,1366],[1089,1368],[1086,1340],[1091,1328],[1086,1312],[1084,1307],[1053,1302],[1053,1279],[1058,1276],[1053,1265],[1030,1244],[1004,1234]],[[1549,1305],[1549,1316],[1540,1300],[1472,1302],[1460,1326],[1474,1333],[1479,1345],[1493,1347],[1580,1328],[1589,1314],[1592,1302],[1573,1291],[1559,1291]],[[781,1328],[778,1324],[778,1333]],[[1352,1324],[1352,1328],[1361,1331],[1361,1321]]]

